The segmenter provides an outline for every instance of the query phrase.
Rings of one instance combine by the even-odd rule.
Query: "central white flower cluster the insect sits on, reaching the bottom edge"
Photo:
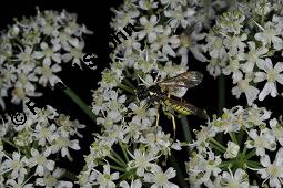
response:
[[[149,54],[140,55],[144,64],[152,60]],[[174,70],[174,73],[184,71],[180,65],[162,67],[156,61],[155,64],[164,76],[173,74],[166,69]],[[146,71],[129,67],[123,61],[112,63],[102,72],[100,87],[93,92],[92,105],[98,115],[97,124],[102,128],[101,134],[95,134],[90,154],[85,157],[87,164],[78,181],[80,186],[129,187],[130,184],[138,188],[142,185],[176,187],[169,181],[175,176],[175,170],[169,167],[163,171],[158,161],[168,157],[171,149],[180,150],[181,144],[165,134],[160,125],[155,126],[158,109],[146,100],[137,100],[134,90],[141,82],[138,75],[153,84],[153,77]],[[110,174],[110,168],[113,174]]]

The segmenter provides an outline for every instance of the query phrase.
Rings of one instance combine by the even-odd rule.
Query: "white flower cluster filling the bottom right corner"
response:
[[[270,111],[256,105],[224,109],[195,135],[186,163],[192,185],[282,187],[283,122],[271,118]]]

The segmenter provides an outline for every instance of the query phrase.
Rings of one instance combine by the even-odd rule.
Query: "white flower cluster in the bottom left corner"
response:
[[[23,124],[16,125],[12,115],[0,122],[0,187],[72,187],[61,180],[65,170],[57,161],[72,160],[69,149],[80,149],[74,137],[82,137],[78,130],[85,126],[49,105],[34,114],[26,106],[24,113]]]

